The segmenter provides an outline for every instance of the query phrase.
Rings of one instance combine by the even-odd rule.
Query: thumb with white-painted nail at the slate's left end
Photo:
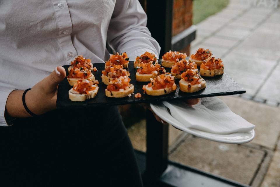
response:
[[[46,77],[46,84],[50,88],[50,91],[57,89],[57,85],[65,78],[65,76],[66,72],[64,67],[55,67],[55,70],[53,70],[53,72],[48,77]]]

